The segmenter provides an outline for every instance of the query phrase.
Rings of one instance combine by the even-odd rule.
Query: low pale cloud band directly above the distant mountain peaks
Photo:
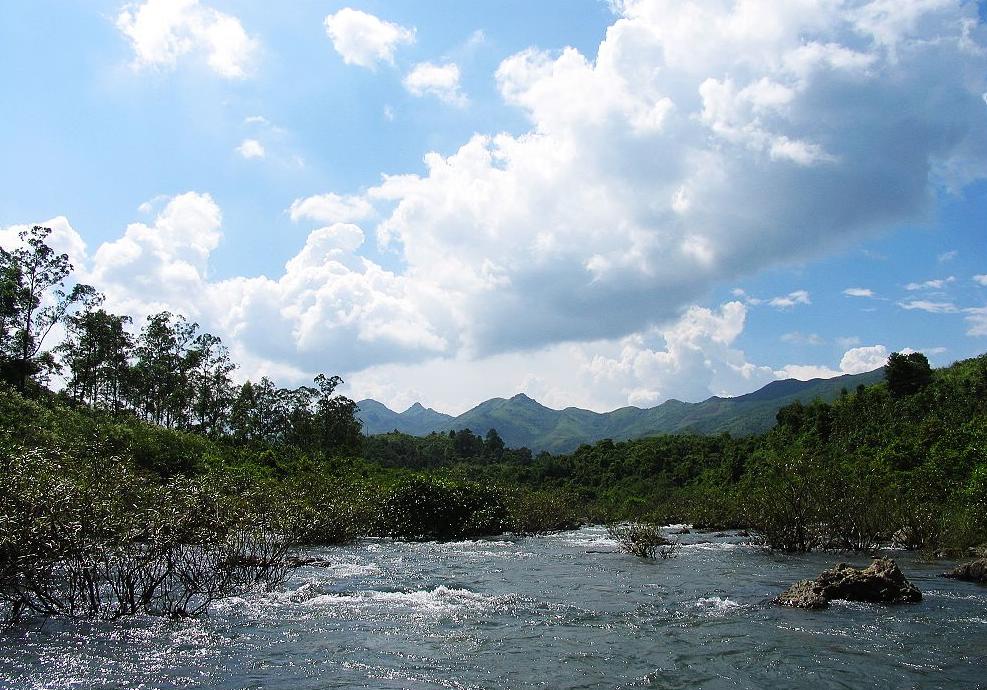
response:
[[[371,367],[351,379],[349,390],[355,398],[372,397],[393,409],[427,399],[454,414],[517,392],[549,407],[598,411],[650,407],[669,397],[695,402],[737,395],[775,378],[769,367],[751,364],[733,347],[745,315],[739,302],[717,310],[691,307],[665,327],[617,340],[563,343],[480,360],[460,356]]]

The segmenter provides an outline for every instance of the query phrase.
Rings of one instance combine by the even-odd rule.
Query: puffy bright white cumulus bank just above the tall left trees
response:
[[[144,316],[183,313],[228,341],[251,374],[280,372],[293,380],[327,365],[353,371],[380,361],[441,354],[446,342],[425,313],[428,296],[357,256],[361,228],[334,223],[309,234],[276,279],[215,280],[210,254],[223,238],[222,213],[208,194],[171,197],[149,223],[131,223],[87,257],[64,219],[50,221],[56,248],[71,249],[79,280],[106,293],[107,306]],[[18,227],[0,231],[0,241]]]

